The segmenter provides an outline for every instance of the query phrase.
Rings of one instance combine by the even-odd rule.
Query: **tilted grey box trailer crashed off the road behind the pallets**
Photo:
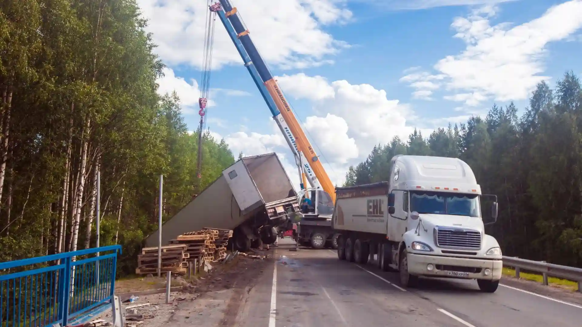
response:
[[[297,194],[275,153],[244,157],[162,225],[162,244],[203,228],[232,229],[232,246],[249,250],[276,241],[276,227],[299,212]],[[158,232],[145,246],[158,244]]]

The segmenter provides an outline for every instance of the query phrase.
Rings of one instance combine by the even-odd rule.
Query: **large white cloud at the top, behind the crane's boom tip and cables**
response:
[[[203,62],[207,1],[138,0],[155,49],[169,65]],[[322,27],[345,23],[352,12],[340,0],[237,0],[236,6],[263,58],[280,67],[309,67],[331,63],[329,55],[347,47]],[[274,33],[276,31],[276,33]],[[217,18],[213,69],[242,63],[228,33]]]

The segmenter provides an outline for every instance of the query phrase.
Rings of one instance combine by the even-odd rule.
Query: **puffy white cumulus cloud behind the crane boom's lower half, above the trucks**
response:
[[[388,143],[394,136],[406,138],[414,130],[406,124],[413,116],[408,106],[386,98],[384,90],[369,84],[345,80],[330,83],[324,77],[303,73],[275,78],[289,99],[307,99],[313,106],[315,115],[304,119],[303,128],[330,179],[338,185],[343,184],[349,165],[361,161],[374,145]],[[275,123],[271,124],[271,134],[238,132],[225,140],[233,152],[243,151],[245,155],[285,153],[285,165],[293,168],[288,170],[289,175],[297,175],[285,139]]]

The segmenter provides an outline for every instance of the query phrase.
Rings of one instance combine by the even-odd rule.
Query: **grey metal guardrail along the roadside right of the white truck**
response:
[[[578,292],[582,293],[582,268],[548,264],[545,261],[532,261],[505,256],[503,257],[503,265],[515,268],[516,278],[519,278],[520,269],[541,273],[544,285],[548,285],[548,276],[578,282]]]

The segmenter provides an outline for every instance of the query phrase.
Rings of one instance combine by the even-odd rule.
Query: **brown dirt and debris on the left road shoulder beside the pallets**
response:
[[[125,303],[126,307],[149,303],[126,310],[130,317],[135,310],[138,320],[140,320],[139,315],[143,315],[141,322],[127,319],[127,325],[143,327],[235,326],[241,305],[257,279],[264,274],[269,263],[272,264],[272,257],[272,249],[254,251],[249,254],[241,253],[230,262],[211,263],[210,272],[193,276],[190,280],[187,280],[186,276],[173,278],[172,286],[182,286],[182,290],[171,293],[169,304],[166,304],[165,293],[143,295],[133,303]],[[162,285],[161,279],[143,278],[139,282],[125,282],[118,286],[120,290],[127,292],[127,288],[132,286],[134,289],[143,289],[160,285]],[[107,319],[110,318],[107,317]]]

